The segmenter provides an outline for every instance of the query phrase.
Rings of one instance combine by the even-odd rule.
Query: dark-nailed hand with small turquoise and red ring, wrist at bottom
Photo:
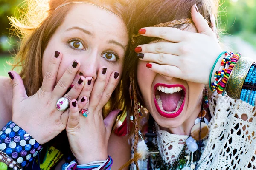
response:
[[[113,72],[106,84],[106,68],[98,71],[97,79],[90,94],[87,117],[79,113],[77,101],[70,103],[70,116],[67,122],[67,136],[70,148],[79,164],[108,158],[108,139],[113,124],[121,110],[114,110],[103,120],[102,108],[108,102],[119,82],[119,73]]]

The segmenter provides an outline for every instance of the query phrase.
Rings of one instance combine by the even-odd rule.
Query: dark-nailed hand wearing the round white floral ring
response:
[[[12,121],[23,128],[40,144],[53,139],[67,125],[70,109],[58,111],[56,108],[58,99],[64,95],[69,100],[77,99],[84,87],[85,78],[81,76],[73,88],[65,94],[80,67],[77,61],[70,64],[55,86],[61,58],[62,55],[58,52],[55,53],[55,56],[52,56],[41,88],[30,97],[26,94],[19,74],[15,71],[9,72],[13,86]],[[84,103],[87,102],[87,98],[83,96],[82,101],[84,102],[79,102],[79,108],[82,108]]]

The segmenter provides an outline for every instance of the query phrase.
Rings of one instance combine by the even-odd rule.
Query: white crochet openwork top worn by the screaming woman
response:
[[[214,93],[209,99],[209,110],[209,135],[204,140],[197,170],[256,169],[255,107]],[[156,130],[160,155],[170,163],[177,159],[188,136],[171,134],[158,126]],[[140,170],[146,170],[147,163],[148,159],[138,161]],[[134,164],[130,169],[136,170]]]

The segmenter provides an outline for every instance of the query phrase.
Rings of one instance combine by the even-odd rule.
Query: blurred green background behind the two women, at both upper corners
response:
[[[17,51],[17,37],[9,37],[9,20],[23,0],[0,0],[0,76],[6,76],[11,66],[6,61]],[[256,0],[221,1],[221,42],[244,56],[256,54]]]

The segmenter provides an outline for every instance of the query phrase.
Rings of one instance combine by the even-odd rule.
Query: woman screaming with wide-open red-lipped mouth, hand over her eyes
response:
[[[135,161],[132,170],[256,168],[256,65],[221,49],[218,6],[218,0],[131,3],[122,85],[134,139],[133,159],[123,167]],[[219,95],[223,89],[228,96]]]

